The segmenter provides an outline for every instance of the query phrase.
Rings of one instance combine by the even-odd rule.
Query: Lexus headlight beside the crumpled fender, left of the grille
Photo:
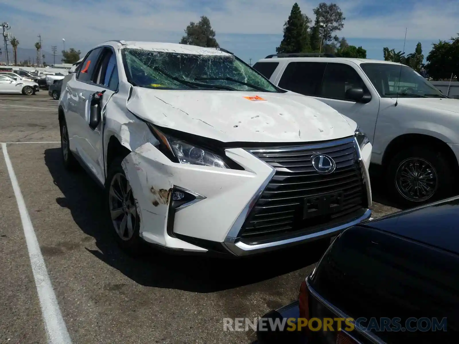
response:
[[[174,154],[181,164],[229,168],[220,156],[209,152],[208,150],[196,147],[183,140],[165,135],[152,125],[149,125],[149,127],[153,133],[156,133],[157,137],[172,152],[172,154]]]

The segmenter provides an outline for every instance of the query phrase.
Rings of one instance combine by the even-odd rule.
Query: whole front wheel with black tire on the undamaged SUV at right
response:
[[[400,205],[411,208],[452,194],[453,168],[440,150],[428,146],[402,150],[387,172],[387,187]]]

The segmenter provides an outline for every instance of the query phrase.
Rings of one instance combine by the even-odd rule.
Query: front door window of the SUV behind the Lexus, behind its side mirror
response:
[[[353,67],[344,63],[327,63],[319,97],[355,101],[346,97],[346,91],[353,88],[368,93],[364,81]]]

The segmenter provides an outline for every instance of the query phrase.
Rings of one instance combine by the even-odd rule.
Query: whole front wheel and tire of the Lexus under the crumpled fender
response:
[[[107,218],[118,245],[130,255],[139,255],[143,248],[139,235],[140,216],[122,161],[121,156],[116,157],[108,168],[105,184]]]

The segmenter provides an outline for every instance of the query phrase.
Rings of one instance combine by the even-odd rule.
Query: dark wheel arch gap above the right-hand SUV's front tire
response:
[[[448,157],[448,160],[452,162],[453,168],[455,171],[459,171],[459,164],[454,155],[453,150],[451,147],[448,146],[447,143],[438,139],[434,136],[426,135],[426,134],[418,134],[418,133],[409,133],[397,136],[395,139],[387,145],[386,150],[384,151],[382,157],[382,166],[384,169],[390,163],[391,158],[400,151],[400,147],[407,147],[407,146],[414,146],[414,145],[428,145],[437,150],[442,151]]]

